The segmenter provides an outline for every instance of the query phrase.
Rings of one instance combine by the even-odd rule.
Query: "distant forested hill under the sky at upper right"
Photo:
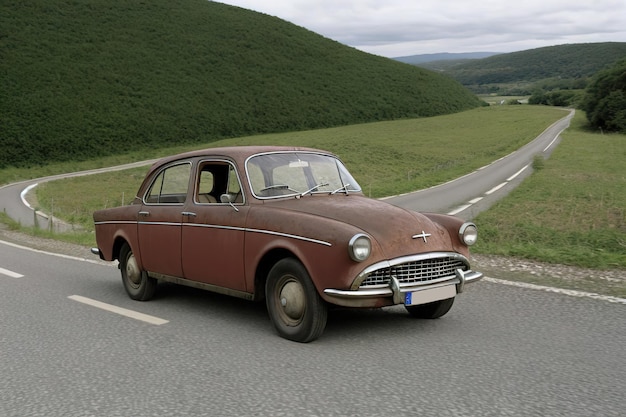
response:
[[[475,92],[485,93],[515,87],[529,90],[529,86],[549,80],[560,83],[561,88],[584,88],[587,78],[625,56],[626,42],[585,43],[422,66],[448,74]]]

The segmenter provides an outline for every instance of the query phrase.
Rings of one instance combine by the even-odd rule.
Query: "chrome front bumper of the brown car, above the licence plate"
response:
[[[338,305],[354,306],[354,307],[370,307],[374,306],[373,303],[368,300],[377,298],[391,297],[393,301],[391,304],[404,304],[406,294],[409,292],[418,292],[431,290],[435,288],[445,287],[449,285],[456,285],[456,293],[460,294],[465,288],[465,284],[476,282],[483,277],[482,272],[478,271],[463,271],[457,269],[455,276],[448,280],[437,281],[436,283],[426,284],[401,284],[395,277],[391,277],[391,281],[388,286],[376,286],[374,288],[359,288],[357,290],[337,290],[333,288],[327,288],[324,290],[324,294]]]

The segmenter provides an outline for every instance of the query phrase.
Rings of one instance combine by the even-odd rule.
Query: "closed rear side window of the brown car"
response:
[[[150,186],[145,202],[148,204],[183,204],[187,198],[191,164],[179,164],[161,171]]]

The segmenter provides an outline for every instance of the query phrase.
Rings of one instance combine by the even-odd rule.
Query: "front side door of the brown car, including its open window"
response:
[[[189,215],[182,228],[186,279],[246,291],[243,249],[248,208],[231,162],[205,160],[198,164],[193,198],[185,206]]]

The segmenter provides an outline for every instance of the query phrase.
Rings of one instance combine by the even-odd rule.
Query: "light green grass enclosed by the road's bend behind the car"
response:
[[[564,115],[555,108],[483,107],[432,118],[228,139],[210,146],[327,149],[342,158],[365,194],[383,197],[436,185],[484,166],[534,139]],[[36,188],[35,205],[90,232],[93,211],[128,203],[146,170],[42,183]]]

